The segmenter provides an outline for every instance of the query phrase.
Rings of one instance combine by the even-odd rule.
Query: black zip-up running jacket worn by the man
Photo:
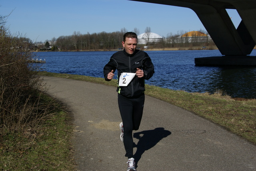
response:
[[[104,67],[104,77],[108,80],[108,73],[117,70],[117,84],[119,82],[120,75],[123,72],[136,73],[137,68],[140,68],[144,72],[144,77],[138,78],[135,76],[128,86],[117,87],[117,92],[125,97],[137,97],[142,95],[145,91],[145,80],[150,79],[154,74],[154,65],[151,62],[148,54],[141,50],[135,50],[130,55],[125,50],[118,51],[113,54],[106,66]]]

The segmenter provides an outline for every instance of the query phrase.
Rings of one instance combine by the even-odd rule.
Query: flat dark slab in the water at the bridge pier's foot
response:
[[[249,66],[256,67],[256,56],[213,56],[195,58],[196,66]]]

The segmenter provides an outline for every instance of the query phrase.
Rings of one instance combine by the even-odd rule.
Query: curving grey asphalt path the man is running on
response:
[[[44,82],[73,117],[76,170],[126,171],[116,87],[46,76]],[[153,97],[146,96],[133,137],[137,171],[256,170],[255,145]]]

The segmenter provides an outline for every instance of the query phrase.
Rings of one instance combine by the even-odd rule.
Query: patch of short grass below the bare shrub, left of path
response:
[[[37,129],[25,133],[0,131],[0,170],[74,170],[70,117],[58,102],[52,102],[48,96],[45,99],[54,105],[55,110],[50,118],[40,121]]]

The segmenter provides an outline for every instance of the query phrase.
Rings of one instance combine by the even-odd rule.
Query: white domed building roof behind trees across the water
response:
[[[138,44],[148,44],[152,42],[160,42],[162,40],[162,36],[156,33],[142,33],[138,36]]]

